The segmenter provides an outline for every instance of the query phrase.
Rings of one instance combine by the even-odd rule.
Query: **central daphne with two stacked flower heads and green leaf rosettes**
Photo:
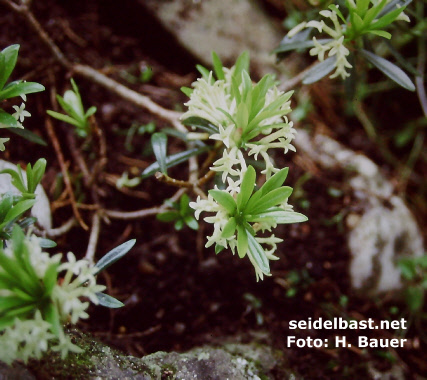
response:
[[[199,191],[197,200],[190,202],[189,206],[195,210],[196,219],[202,212],[215,213],[204,219],[214,228],[212,235],[207,237],[206,247],[215,245],[216,253],[225,248],[230,248],[233,254],[237,250],[241,258],[247,255],[257,279],[263,279],[264,275],[270,275],[269,260],[277,259],[274,252],[282,241],[271,233],[272,229],[277,224],[307,220],[288,204],[292,188],[282,186],[288,169],[276,167],[271,156],[274,149],[284,153],[295,150],[292,140],[296,131],[286,117],[291,112],[292,91],[280,91],[272,75],[253,83],[247,52],[241,54],[231,68],[224,67],[215,53],[212,60],[213,71],[197,66],[202,77],[193,83],[192,88],[183,88],[190,99],[182,121],[193,129],[201,130],[201,133],[189,132],[187,141],[197,139],[201,144],[201,140],[211,140],[213,144],[203,143],[202,147],[184,152],[179,158],[186,156],[188,159],[190,154],[210,149],[209,157],[213,159],[204,166],[211,164],[211,173],[218,174],[219,188],[211,188],[207,195]],[[162,132],[152,136],[157,163],[150,165],[143,175],[161,170],[158,178],[176,183],[167,176],[166,169],[171,163],[182,161],[178,157],[166,157],[166,144],[167,139]],[[257,165],[261,170],[258,180],[254,166],[247,164],[251,156],[255,161],[259,156],[262,158]],[[264,176],[261,177],[262,174]],[[267,181],[255,191],[255,183],[262,180]],[[159,219],[184,220],[187,223],[191,215],[188,210],[183,215],[182,208],[187,210],[181,205],[181,211],[164,212]],[[270,233],[267,236],[266,231]]]

